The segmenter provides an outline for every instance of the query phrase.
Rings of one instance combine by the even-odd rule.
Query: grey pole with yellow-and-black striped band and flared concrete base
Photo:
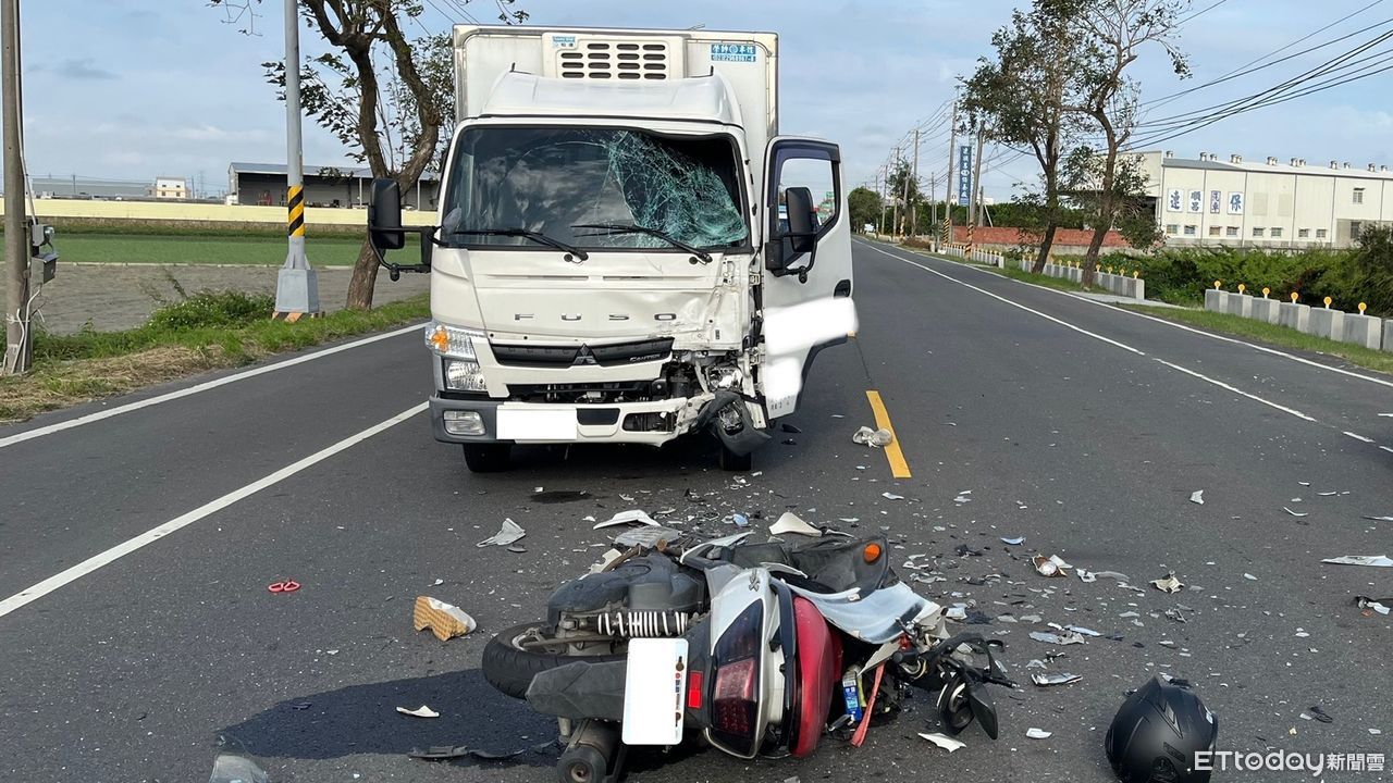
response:
[[[286,3],[286,265],[276,276],[272,318],[299,320],[323,315],[319,277],[305,256],[305,162],[299,139],[299,1]]]

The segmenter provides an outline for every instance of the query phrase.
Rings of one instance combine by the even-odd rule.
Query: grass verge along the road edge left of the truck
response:
[[[198,295],[187,301],[198,301]],[[0,378],[0,424],[195,372],[251,364],[281,351],[380,332],[429,313],[422,294],[368,312],[337,311],[298,323],[272,320],[267,307],[233,325],[208,326],[199,325],[199,313],[185,309],[163,319],[157,312],[145,326],[123,332],[40,333],[35,336],[33,372]]]

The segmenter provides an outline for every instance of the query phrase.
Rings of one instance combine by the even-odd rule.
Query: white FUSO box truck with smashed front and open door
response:
[[[368,216],[393,279],[432,273],[436,439],[492,471],[709,429],[748,470],[855,329],[840,153],[779,137],[777,36],[460,25],[454,56],[439,224],[393,180]]]

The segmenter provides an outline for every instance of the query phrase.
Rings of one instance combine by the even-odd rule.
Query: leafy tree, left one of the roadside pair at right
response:
[[[972,125],[990,128],[993,139],[1024,146],[1041,167],[1039,188],[1015,196],[1034,219],[1024,228],[1035,248],[1035,272],[1043,272],[1063,212],[1060,162],[1082,130],[1082,118],[1064,110],[1078,82],[1071,79],[1082,57],[1080,35],[1070,24],[1071,6],[1036,1],[1013,11],[1011,22],[992,36],[995,57],[978,61],[965,82],[963,107]]]

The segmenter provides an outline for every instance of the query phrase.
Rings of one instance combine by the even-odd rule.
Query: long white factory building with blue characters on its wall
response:
[[[1393,171],[1293,157],[1141,153],[1170,247],[1347,248],[1369,223],[1393,223]]]

